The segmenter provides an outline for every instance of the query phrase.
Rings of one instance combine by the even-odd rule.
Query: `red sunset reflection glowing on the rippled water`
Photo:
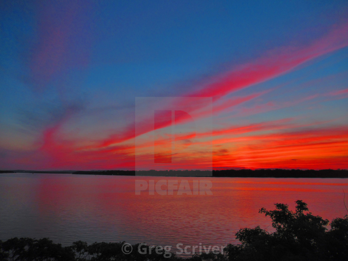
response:
[[[135,195],[135,180],[210,180],[213,195],[150,195],[148,190]],[[318,181],[319,180],[319,181]],[[285,203],[294,210],[295,201],[304,200],[315,215],[332,220],[343,217],[341,187],[344,180],[330,179],[252,179],[207,177],[126,177],[64,176],[43,177],[37,190],[39,215],[64,227],[84,225],[89,241],[123,241],[148,244],[197,245],[235,242],[235,233],[244,227],[260,225],[271,231],[261,207],[274,209]],[[342,183],[340,183],[342,182]],[[85,226],[85,227],[84,227]],[[88,228],[86,228],[88,226]],[[51,231],[51,233],[55,233]],[[110,233],[110,234],[108,234]],[[74,231],[66,231],[74,238]],[[74,238],[75,240],[76,238]],[[76,240],[79,240],[76,239]],[[72,240],[73,241],[73,240]]]

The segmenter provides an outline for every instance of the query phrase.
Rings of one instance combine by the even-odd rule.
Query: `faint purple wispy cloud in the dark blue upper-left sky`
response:
[[[39,1],[36,8],[38,21],[36,40],[28,57],[29,82],[35,90],[44,90],[47,84],[66,75],[74,66],[88,64],[86,36],[77,31],[83,23],[81,14],[91,8],[85,1]],[[82,29],[82,28],[80,28]],[[75,46],[75,39],[85,39],[84,45]]]

